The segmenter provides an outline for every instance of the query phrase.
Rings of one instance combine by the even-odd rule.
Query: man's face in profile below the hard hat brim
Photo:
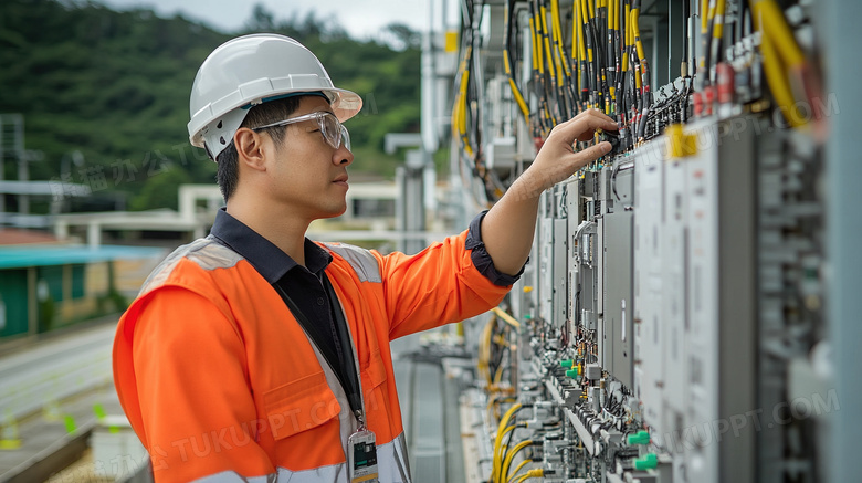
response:
[[[319,111],[332,112],[319,96],[303,97],[290,117]],[[347,209],[347,167],[354,155],[344,147],[334,149],[324,139],[316,120],[291,124],[283,129],[284,140],[267,159],[270,196],[296,216],[316,220],[338,217]],[[270,139],[272,143],[272,139]]]

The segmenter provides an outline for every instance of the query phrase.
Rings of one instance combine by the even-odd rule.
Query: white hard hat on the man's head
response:
[[[299,42],[275,33],[230,40],[212,51],[195,76],[189,140],[197,147],[206,144],[214,160],[253,105],[298,93],[323,93],[341,122],[362,108],[361,97],[335,88],[320,61]]]

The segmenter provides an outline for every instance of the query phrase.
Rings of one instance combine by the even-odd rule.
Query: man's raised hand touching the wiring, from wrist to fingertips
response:
[[[611,149],[608,141],[575,151],[575,141],[592,139],[596,129],[617,130],[617,123],[596,109],[585,111],[558,124],[542,146],[536,160],[509,189],[517,199],[535,198]]]

